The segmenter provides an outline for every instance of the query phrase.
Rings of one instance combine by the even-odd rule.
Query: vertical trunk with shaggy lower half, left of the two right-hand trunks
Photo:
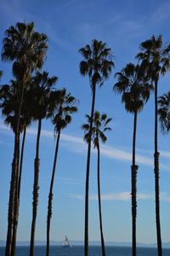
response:
[[[136,215],[137,215],[137,172],[138,166],[136,166],[135,155],[136,155],[136,128],[137,128],[137,113],[134,113],[133,122],[133,161],[131,166],[131,178],[132,178],[132,241],[133,241],[133,256],[136,256]]]

